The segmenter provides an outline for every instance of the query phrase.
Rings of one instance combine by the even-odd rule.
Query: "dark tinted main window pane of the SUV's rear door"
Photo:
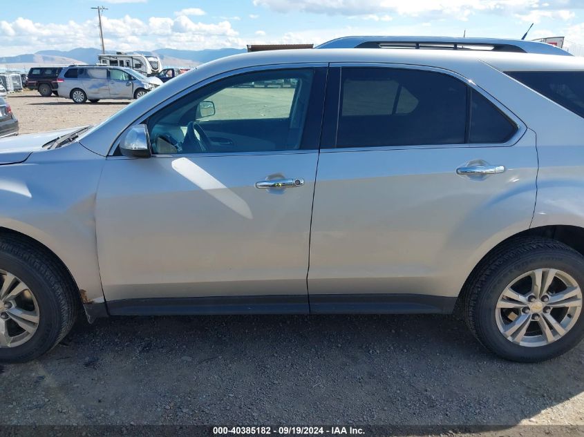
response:
[[[464,144],[467,86],[437,72],[343,68],[337,147]]]

